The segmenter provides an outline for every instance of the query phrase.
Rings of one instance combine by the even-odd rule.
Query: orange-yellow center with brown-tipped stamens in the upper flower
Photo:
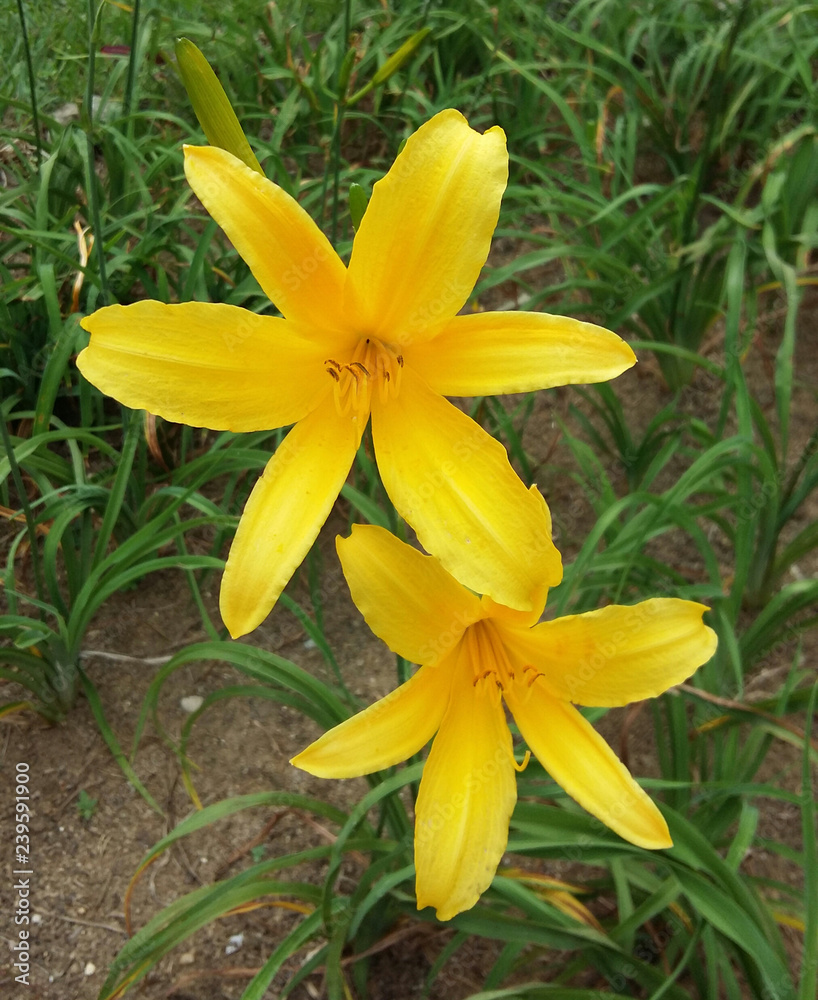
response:
[[[377,388],[382,403],[400,390],[403,355],[374,337],[359,340],[347,362],[327,358],[327,374],[335,382],[335,405],[340,416],[352,414],[363,426]]]

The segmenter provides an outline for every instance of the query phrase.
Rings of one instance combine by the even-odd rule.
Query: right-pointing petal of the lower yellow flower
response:
[[[690,677],[716,650],[702,622],[703,604],[655,598],[508,629],[503,641],[517,663],[544,674],[553,695],[608,708],[655,698]]]

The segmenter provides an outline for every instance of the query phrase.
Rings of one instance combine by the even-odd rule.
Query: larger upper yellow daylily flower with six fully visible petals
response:
[[[464,584],[524,610],[556,584],[543,502],[503,447],[443,397],[614,378],[619,337],[543,313],[458,315],[488,256],[508,176],[500,128],[453,110],[375,184],[346,267],[281,188],[214,147],[187,179],[282,317],[138,302],[83,320],[82,373],[126,406],[214,430],[295,424],[258,480],[221,588],[231,634],[269,613],[326,520],[371,415],[392,502]]]

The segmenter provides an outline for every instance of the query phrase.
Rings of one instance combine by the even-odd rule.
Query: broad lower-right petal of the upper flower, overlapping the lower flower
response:
[[[389,498],[456,580],[520,611],[559,583],[542,497],[501,444],[408,367],[397,396],[373,400],[372,435]]]

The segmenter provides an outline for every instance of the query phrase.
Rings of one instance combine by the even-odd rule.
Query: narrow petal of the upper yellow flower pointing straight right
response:
[[[625,341],[601,326],[530,312],[455,316],[433,340],[407,346],[404,355],[443,396],[604,382],[636,363]]]

